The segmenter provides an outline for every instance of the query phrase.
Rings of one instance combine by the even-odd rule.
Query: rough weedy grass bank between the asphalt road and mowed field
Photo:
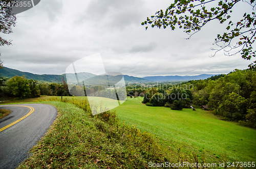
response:
[[[150,133],[120,123],[115,112],[92,116],[86,100],[70,102],[41,102],[58,109],[57,119],[18,168],[147,168],[148,161],[174,160]]]

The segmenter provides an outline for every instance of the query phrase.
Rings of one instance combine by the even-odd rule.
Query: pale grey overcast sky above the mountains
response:
[[[209,57],[217,34],[226,28],[218,21],[206,25],[189,40],[178,29],[145,31],[141,22],[170,3],[42,0],[34,8],[17,14],[12,34],[1,34],[13,43],[1,47],[1,60],[9,68],[57,75],[65,73],[76,60],[94,54],[100,54],[106,71],[137,77],[225,74],[235,68],[247,68],[250,61],[240,55],[228,57],[219,52]],[[236,9],[233,16],[240,19],[251,7],[241,2]]]

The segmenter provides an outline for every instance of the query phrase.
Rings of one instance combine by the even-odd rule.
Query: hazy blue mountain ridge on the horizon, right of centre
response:
[[[147,77],[143,77],[143,79],[154,81],[154,82],[168,82],[168,81],[200,80],[200,79],[207,79],[212,76],[216,76],[216,75],[202,74],[197,76],[147,76]]]

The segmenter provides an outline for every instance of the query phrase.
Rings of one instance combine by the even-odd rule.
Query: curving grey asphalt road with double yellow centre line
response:
[[[0,119],[0,168],[15,168],[44,136],[57,115],[45,104],[0,105],[12,112]]]

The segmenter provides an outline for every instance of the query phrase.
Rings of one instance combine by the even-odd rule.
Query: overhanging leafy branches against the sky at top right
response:
[[[221,24],[227,24],[226,32],[222,35],[218,34],[215,39],[215,44],[219,47],[215,54],[224,50],[225,55],[240,53],[242,58],[251,60],[255,58],[252,44],[256,34],[256,15],[255,12],[251,12],[244,13],[241,18],[232,18],[230,15],[232,9],[240,3],[247,3],[253,9],[255,0],[175,0],[166,10],[161,9],[151,18],[147,17],[141,25],[164,29],[169,27],[172,30],[178,27],[189,35],[189,39],[208,22],[219,20]],[[145,28],[147,29],[148,26]],[[235,52],[231,53],[231,50]],[[256,69],[256,60],[248,66]]]

